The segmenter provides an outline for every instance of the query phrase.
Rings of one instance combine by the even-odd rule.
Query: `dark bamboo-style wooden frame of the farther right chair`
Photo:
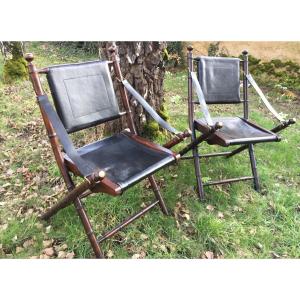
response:
[[[196,136],[196,129],[194,126],[194,121],[195,121],[195,115],[194,115],[194,104],[195,101],[193,101],[193,92],[192,92],[192,77],[191,77],[191,72],[193,72],[193,63],[194,63],[194,58],[193,58],[193,47],[189,46],[187,48],[188,53],[187,53],[187,60],[188,60],[188,118],[189,118],[189,128],[192,131],[191,135],[191,140],[195,141],[197,140]],[[254,127],[259,127],[256,124],[251,123],[249,119],[249,100],[248,100],[248,84],[249,84],[249,79],[248,75],[248,51],[244,50],[243,51],[243,59],[240,60],[240,63],[242,65],[242,70],[243,70],[243,112],[244,112],[244,119],[251,124]],[[261,96],[262,97],[262,96]],[[262,99],[263,100],[263,99]],[[267,100],[266,100],[267,101]],[[274,108],[270,105],[270,103],[265,103],[264,104],[267,106],[267,108],[273,113],[273,115],[278,119],[278,114],[274,110]],[[272,128],[269,130],[269,132],[272,133],[277,133],[280,132],[281,130],[287,128],[291,124],[294,124],[296,122],[295,119],[289,119],[289,120],[283,120],[282,118],[279,117],[280,124],[277,125],[276,127]],[[218,129],[222,128],[223,124],[220,122],[219,124],[215,124],[214,127]],[[211,126],[207,126],[208,128],[211,128]],[[260,128],[262,129],[262,128]],[[209,138],[213,136],[215,132],[212,131],[212,134],[209,135]],[[216,133],[218,134],[218,133]],[[205,139],[205,140],[207,140]],[[280,139],[278,139],[279,141]],[[204,141],[204,140],[203,140]],[[211,185],[219,185],[219,184],[228,184],[232,182],[237,182],[237,181],[245,181],[245,180],[253,180],[253,185],[254,189],[256,191],[260,191],[260,183],[259,183],[259,176],[257,172],[257,164],[256,164],[256,159],[255,159],[255,154],[254,154],[254,144],[245,144],[242,146],[239,146],[237,149],[233,151],[226,151],[226,152],[217,152],[217,153],[207,153],[207,154],[199,154],[198,146],[200,143],[195,143],[195,146],[192,147],[192,156],[185,156],[182,157],[182,159],[193,159],[194,160],[194,166],[195,166],[195,175],[196,175],[196,185],[197,185],[197,192],[200,200],[204,200],[205,195],[204,195],[204,186],[211,186]],[[243,176],[243,177],[237,177],[237,178],[230,178],[230,179],[224,179],[224,180],[216,180],[216,181],[210,181],[210,182],[203,182],[202,181],[202,176],[201,176],[201,171],[200,171],[200,159],[202,158],[209,158],[209,157],[217,157],[217,156],[225,156],[226,158],[232,157],[244,150],[248,149],[249,153],[249,159],[250,159],[250,164],[251,164],[251,171],[252,171],[252,176]]]

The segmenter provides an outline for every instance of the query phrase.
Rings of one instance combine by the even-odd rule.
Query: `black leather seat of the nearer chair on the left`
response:
[[[122,190],[174,162],[174,153],[137,135],[121,132],[77,149]],[[67,163],[72,163],[65,155]]]

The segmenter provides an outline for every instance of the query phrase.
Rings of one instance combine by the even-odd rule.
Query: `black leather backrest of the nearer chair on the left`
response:
[[[57,113],[68,132],[120,117],[106,61],[52,66],[47,79]]]

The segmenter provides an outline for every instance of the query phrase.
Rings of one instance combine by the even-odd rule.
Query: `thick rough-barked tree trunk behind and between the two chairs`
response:
[[[111,45],[111,42],[102,42],[100,49],[101,58],[109,59],[107,50]],[[117,42],[116,46],[124,79],[127,79],[147,102],[164,117],[163,80],[165,67],[163,54],[167,43]],[[117,86],[115,80],[114,85]],[[131,99],[131,96],[128,96]],[[118,92],[117,97],[120,99]],[[159,129],[157,124],[145,114],[141,105],[132,106],[132,111],[135,126],[140,134],[155,135],[157,133]],[[120,122],[108,124],[106,130],[116,132],[126,127],[128,127],[126,120],[122,118]]]

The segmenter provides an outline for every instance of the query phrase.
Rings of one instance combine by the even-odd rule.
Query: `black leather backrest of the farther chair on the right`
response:
[[[198,79],[207,104],[240,103],[240,60],[201,56],[196,58]]]

